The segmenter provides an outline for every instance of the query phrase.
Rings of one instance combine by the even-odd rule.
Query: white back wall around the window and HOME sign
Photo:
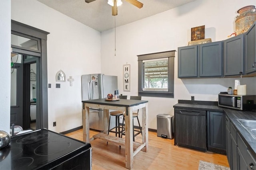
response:
[[[118,76],[119,93],[138,95],[137,55],[176,50],[188,45],[191,28],[205,25],[205,38],[222,41],[235,31],[237,10],[256,5],[255,0],[197,0],[161,14],[116,28],[116,57],[114,56],[114,30],[102,33],[102,72]],[[120,16],[116,16],[120,17]],[[156,129],[156,115],[174,114],[178,100],[218,101],[218,93],[234,88],[234,80],[241,78],[178,79],[178,52],[174,64],[174,98],[142,97],[148,100],[149,124]],[[104,64],[103,64],[104,63]],[[131,92],[123,90],[123,64],[131,65]],[[113,69],[109,69],[113,68]],[[256,77],[242,78],[247,93],[256,94]]]

